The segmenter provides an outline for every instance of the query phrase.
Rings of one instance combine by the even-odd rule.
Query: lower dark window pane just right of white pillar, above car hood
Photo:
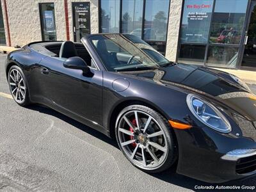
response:
[[[205,47],[206,45],[181,45],[179,62],[192,64],[204,63]]]

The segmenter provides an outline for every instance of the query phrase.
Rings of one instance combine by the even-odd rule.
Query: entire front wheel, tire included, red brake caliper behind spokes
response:
[[[116,140],[125,157],[145,172],[162,172],[177,159],[167,120],[145,106],[132,105],[120,112],[116,119]]]

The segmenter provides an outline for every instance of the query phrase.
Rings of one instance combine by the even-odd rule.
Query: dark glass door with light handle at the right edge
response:
[[[254,67],[256,69],[256,1],[251,3],[248,22],[242,67]]]

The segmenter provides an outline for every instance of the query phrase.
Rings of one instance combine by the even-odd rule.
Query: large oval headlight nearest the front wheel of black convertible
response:
[[[212,129],[224,133],[231,131],[231,126],[222,113],[215,108],[211,103],[189,94],[187,104],[190,111],[195,115],[200,122],[211,127]]]

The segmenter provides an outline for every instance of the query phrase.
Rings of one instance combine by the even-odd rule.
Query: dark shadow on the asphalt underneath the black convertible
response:
[[[80,122],[77,122],[76,120],[74,120],[72,118],[69,118],[68,116],[65,116],[65,115],[59,113],[58,111],[54,111],[53,109],[47,108],[45,106],[39,106],[39,105],[32,105],[27,108],[31,109],[31,110],[38,111],[40,113],[45,113],[47,115],[51,115],[51,116],[60,118],[61,120],[67,122],[68,124],[73,125],[74,127],[77,127],[81,131],[84,131],[84,132],[94,136],[95,138],[98,138],[99,140],[102,140],[102,141],[108,143],[109,145],[112,145],[113,147],[116,147],[119,149],[115,140],[109,138],[108,136],[102,134],[99,131],[96,131],[95,129],[92,129],[84,124],[81,124]],[[196,186],[213,186],[215,188],[216,186],[242,186],[242,185],[255,186],[255,184],[256,184],[256,177],[251,177],[251,178],[243,179],[243,180],[233,180],[233,181],[225,182],[225,183],[221,183],[221,184],[211,184],[211,183],[207,183],[207,182],[202,182],[200,180],[192,179],[190,177],[186,177],[184,175],[177,174],[175,172],[175,165],[161,173],[145,173],[145,174],[151,175],[152,177],[156,177],[157,179],[164,180],[165,182],[174,184],[176,186],[180,186],[182,188],[191,189],[193,191],[209,191],[209,189],[205,189],[205,190],[204,189],[196,189]],[[211,191],[212,191],[212,189],[211,189]],[[225,190],[222,189],[221,191],[225,191]],[[232,190],[232,191],[236,191],[236,190]]]

